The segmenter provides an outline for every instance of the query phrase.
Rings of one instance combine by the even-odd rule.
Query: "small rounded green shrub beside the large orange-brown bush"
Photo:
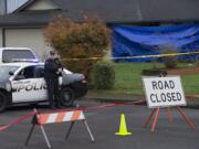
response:
[[[96,63],[91,72],[92,85],[96,89],[109,89],[115,83],[115,71],[111,63]]]

